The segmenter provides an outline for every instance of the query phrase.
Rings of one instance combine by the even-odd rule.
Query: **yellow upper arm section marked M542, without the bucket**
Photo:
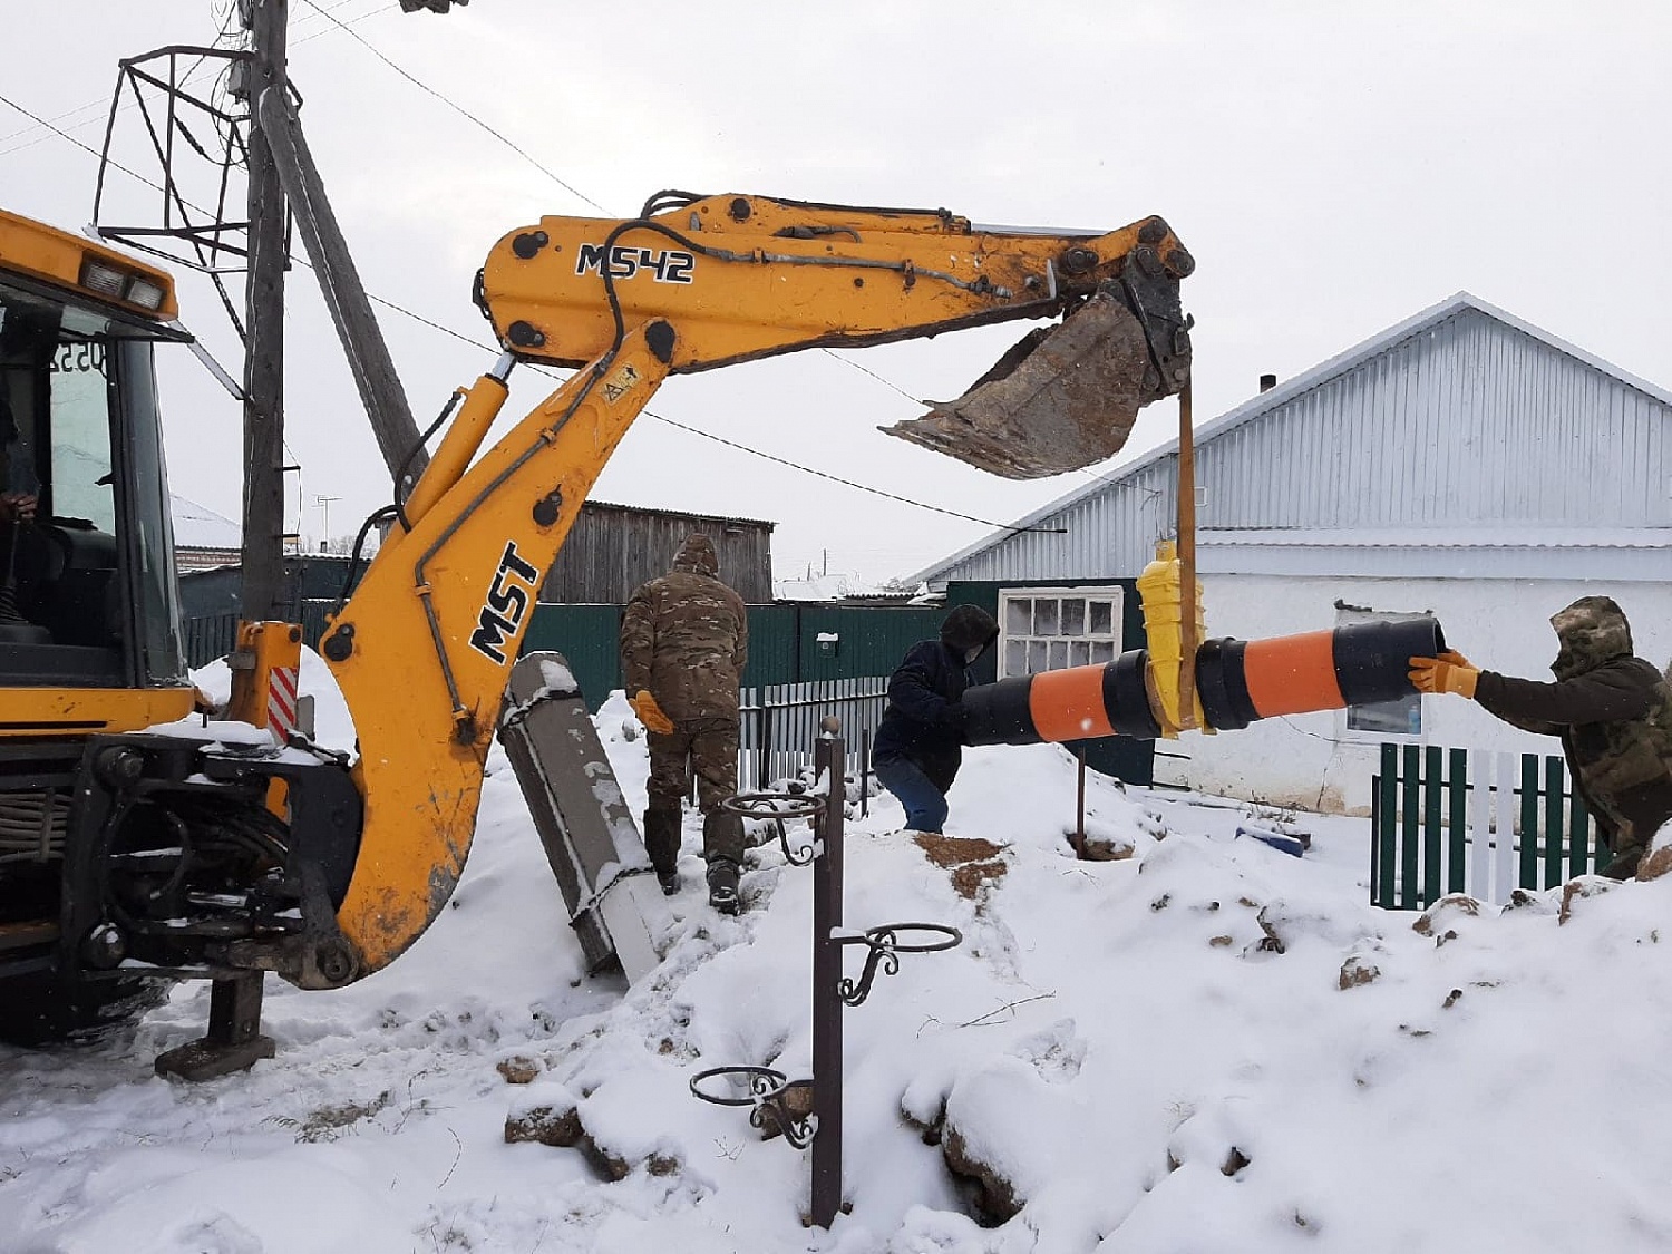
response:
[[[543,217],[488,254],[478,299],[502,343],[580,366],[627,323],[679,328],[670,373],[803,348],[879,344],[1052,318],[1144,249],[1190,254],[1159,219],[1107,234],[975,227],[946,212],[714,196],[650,217]]]

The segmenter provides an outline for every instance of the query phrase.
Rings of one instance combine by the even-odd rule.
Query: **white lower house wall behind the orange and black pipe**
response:
[[[1501,674],[1550,679],[1550,615],[1585,595],[1608,595],[1632,620],[1637,652],[1672,657],[1672,584],[1583,580],[1354,579],[1206,575],[1211,637],[1257,640],[1336,625],[1336,602],[1438,615],[1446,642]],[[1306,809],[1369,813],[1369,781],[1383,741],[1560,754],[1555,737],[1532,736],[1461,697],[1423,699],[1423,736],[1351,732],[1343,711],[1264,719],[1244,731],[1187,732],[1157,744],[1157,782]],[[1174,756],[1179,754],[1179,756]]]

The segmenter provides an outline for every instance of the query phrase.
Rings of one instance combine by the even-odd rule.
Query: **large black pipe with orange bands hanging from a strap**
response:
[[[1195,650],[1195,692],[1216,731],[1236,731],[1277,714],[1369,706],[1408,697],[1409,659],[1446,647],[1430,615],[1404,622],[1359,622],[1333,632],[1269,640],[1207,640]],[[968,744],[1038,744],[1162,734],[1150,699],[1149,650],[1132,649],[1107,665],[1077,665],[1002,679],[963,694]]]

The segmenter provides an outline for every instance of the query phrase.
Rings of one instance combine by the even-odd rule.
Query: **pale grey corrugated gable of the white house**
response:
[[[1465,308],[1197,445],[1204,528],[1672,525],[1672,406]],[[1172,533],[1175,458],[941,580],[1135,575]]]

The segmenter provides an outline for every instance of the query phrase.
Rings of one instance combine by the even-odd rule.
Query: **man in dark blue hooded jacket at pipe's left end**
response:
[[[998,639],[993,615],[960,605],[940,640],[918,640],[888,681],[888,709],[876,729],[871,769],[906,808],[906,828],[940,831],[946,791],[963,762],[963,692],[970,667]]]

